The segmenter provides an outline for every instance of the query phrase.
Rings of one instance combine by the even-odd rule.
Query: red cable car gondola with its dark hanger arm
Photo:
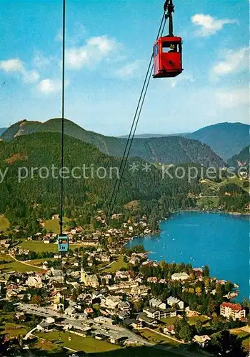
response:
[[[154,43],[154,78],[169,78],[181,74],[181,37],[173,34],[173,17],[174,5],[172,0],[166,0],[164,4],[166,19],[169,19],[169,35],[160,37]]]

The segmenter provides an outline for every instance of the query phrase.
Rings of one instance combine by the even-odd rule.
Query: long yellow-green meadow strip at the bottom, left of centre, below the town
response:
[[[66,346],[74,351],[84,351],[86,353],[106,352],[120,349],[119,346],[113,345],[109,342],[99,341],[93,337],[82,337],[74,333],[59,333],[58,331],[51,331],[48,333],[36,333],[37,337],[44,338],[56,343],[59,346]],[[69,336],[71,341],[69,341]]]

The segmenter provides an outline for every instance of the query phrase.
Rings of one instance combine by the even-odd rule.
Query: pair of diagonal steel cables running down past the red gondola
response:
[[[156,36],[156,40],[159,39],[159,36],[162,36],[163,34],[163,31],[164,31],[164,27],[166,25],[166,16],[165,16],[165,11],[164,11],[164,14],[162,16],[162,19],[161,19],[161,24],[159,26],[159,30],[158,30],[158,34]],[[119,191],[119,187],[120,187],[120,184],[121,184],[121,178],[124,174],[124,169],[125,169],[125,166],[126,166],[126,162],[128,160],[128,157],[129,157],[129,151],[131,149],[131,144],[132,144],[132,141],[134,140],[134,134],[135,134],[135,131],[136,131],[136,127],[137,127],[137,124],[138,124],[138,121],[139,119],[137,118],[136,119],[136,116],[137,114],[139,113],[139,117],[141,115],[141,109],[142,109],[142,106],[144,104],[144,100],[145,100],[145,96],[146,96],[146,91],[149,87],[149,81],[151,79],[151,74],[152,74],[152,69],[153,69],[153,66],[151,66],[151,62],[153,60],[153,54],[151,54],[151,58],[150,58],[150,61],[149,61],[149,66],[147,68],[147,71],[146,71],[146,76],[145,76],[145,79],[144,79],[144,84],[142,86],[142,89],[141,89],[141,94],[139,96],[139,101],[138,101],[138,104],[136,106],[136,111],[135,111],[135,114],[134,114],[134,119],[132,121],[132,124],[131,124],[131,129],[129,131],[129,137],[126,141],[126,146],[125,146],[125,149],[124,149],[124,154],[122,156],[122,159],[121,159],[121,164],[119,166],[119,173],[121,172],[121,176],[116,178],[116,183],[114,185],[114,188],[113,188],[113,191],[111,193],[111,198],[110,198],[110,202],[109,202],[109,207],[108,207],[108,211],[106,213],[106,217],[105,217],[105,223],[107,223],[107,220],[109,220],[109,216],[110,216],[110,213],[112,211],[112,209],[114,208],[114,203],[116,201],[116,197],[117,197],[117,193]],[[146,91],[145,91],[146,89]],[[145,93],[144,93],[145,92]],[[142,102],[141,102],[142,101]],[[141,106],[141,103],[142,103],[142,106]],[[141,108],[140,108],[141,106]],[[140,108],[140,109],[139,109]],[[134,129],[134,124],[136,124],[136,127]],[[134,129],[134,132],[132,134],[132,131]],[[131,134],[132,134],[132,139],[131,139]],[[129,150],[128,150],[128,147],[129,147]],[[125,160],[125,164],[124,164],[124,160]],[[114,198],[115,197],[115,198]]]

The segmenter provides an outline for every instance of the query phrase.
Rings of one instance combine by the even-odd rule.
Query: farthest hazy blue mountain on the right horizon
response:
[[[135,138],[158,138],[163,136],[184,136],[189,139],[201,141],[207,144],[224,161],[239,153],[241,149],[249,145],[250,126],[242,123],[219,123],[205,126],[194,133],[180,134],[139,134]],[[128,136],[122,136],[127,138]]]

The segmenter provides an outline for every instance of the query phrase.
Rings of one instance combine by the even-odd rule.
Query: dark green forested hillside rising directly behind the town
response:
[[[57,168],[54,177],[58,176],[60,154],[60,135],[57,133],[30,134],[10,142],[0,141],[0,169],[2,173],[7,170],[0,185],[0,214],[5,213],[11,222],[18,223],[20,218],[26,218],[28,223],[32,217],[51,218],[52,214],[58,213],[59,178],[52,177],[51,168],[53,165]],[[132,161],[129,161],[129,164],[131,163]],[[191,183],[186,177],[162,178],[161,170],[153,165],[148,172],[139,169],[133,173],[129,170],[129,164],[114,211],[124,211],[126,203],[135,200],[139,202],[133,214],[152,214],[153,218],[164,216],[169,209],[194,206],[194,200],[188,198],[188,194],[196,195],[200,192],[199,178],[191,180]],[[137,164],[141,168],[141,164],[145,163],[139,159]],[[85,171],[86,178],[80,169],[84,165],[90,168]],[[79,168],[74,174],[81,176],[72,178],[69,174],[70,177],[64,180],[66,216],[81,217],[81,223],[84,224],[89,223],[96,210],[105,210],[114,187],[116,170],[111,170],[111,179],[99,178],[96,169],[103,166],[109,176],[110,168],[119,168],[119,165],[120,159],[102,154],[95,146],[65,136],[64,166],[70,173],[74,167]],[[33,178],[31,168],[37,168],[33,171]],[[41,178],[39,169],[40,176],[46,177],[48,170],[49,176]],[[21,174],[19,176],[22,176],[19,180],[18,172]],[[99,176],[102,176],[103,172],[104,169],[101,169]],[[171,170],[169,172],[171,173]]]

